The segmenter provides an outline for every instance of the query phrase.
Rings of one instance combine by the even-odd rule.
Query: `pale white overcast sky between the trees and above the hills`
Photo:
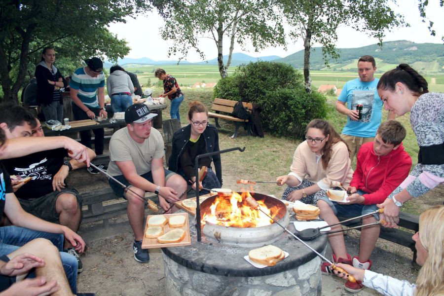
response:
[[[393,9],[397,13],[405,16],[406,21],[411,27],[394,29],[393,32],[387,32],[383,41],[409,40],[416,43],[432,42],[442,43],[441,36],[444,34],[444,9],[439,6],[439,0],[430,0],[426,10],[427,17],[435,23],[433,28],[437,31],[437,36],[430,36],[427,29],[428,23],[421,22],[417,8],[418,0],[399,0],[399,6]],[[371,8],[370,8],[371,9]],[[131,47],[129,58],[147,57],[156,61],[159,60],[177,60],[178,57],[168,57],[168,46],[172,41],[165,41],[160,37],[160,29],[164,25],[163,19],[156,12],[148,15],[139,16],[137,19],[128,18],[126,24],[111,24],[110,31],[117,34],[119,38],[126,39]],[[172,30],[174,33],[174,30]],[[350,28],[342,27],[338,30],[338,40],[336,47],[353,48],[377,43],[377,39],[371,38],[364,33],[356,32]],[[224,52],[228,54],[228,41],[224,40]],[[318,45],[315,45],[318,46]],[[217,49],[214,41],[205,39],[201,42],[199,48],[204,51],[207,59],[213,59],[217,55]],[[287,51],[283,47],[267,48],[259,53],[255,52],[252,46],[246,50],[241,50],[240,46],[235,46],[233,52],[243,52],[254,57],[278,55],[285,57],[303,49],[303,43],[298,40],[291,42],[287,46]],[[201,61],[197,53],[190,51],[186,58],[189,62]]]

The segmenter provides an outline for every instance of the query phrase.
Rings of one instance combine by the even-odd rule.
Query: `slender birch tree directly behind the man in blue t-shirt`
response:
[[[328,56],[338,58],[335,48],[339,25],[349,26],[379,39],[384,32],[404,24],[401,15],[388,6],[395,0],[277,0],[282,14],[294,28],[293,38],[304,41],[305,91],[311,92],[310,52],[315,42],[322,45],[326,65]],[[350,40],[353,42],[353,40]]]

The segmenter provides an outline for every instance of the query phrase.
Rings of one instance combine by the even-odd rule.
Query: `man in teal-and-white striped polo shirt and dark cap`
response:
[[[105,74],[103,62],[99,58],[85,60],[86,67],[75,70],[71,81],[71,100],[75,120],[107,117],[105,111]],[[103,154],[104,129],[94,129],[94,148],[96,154]],[[80,132],[80,143],[91,148],[91,132]],[[98,172],[97,172],[98,173]]]

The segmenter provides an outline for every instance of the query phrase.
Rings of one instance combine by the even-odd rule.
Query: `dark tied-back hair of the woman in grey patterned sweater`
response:
[[[429,92],[425,78],[407,64],[400,64],[395,69],[382,74],[377,88],[395,91],[398,82],[405,84],[408,89],[418,96]]]

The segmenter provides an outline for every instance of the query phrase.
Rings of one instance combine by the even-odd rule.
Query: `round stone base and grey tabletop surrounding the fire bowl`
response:
[[[240,246],[196,240],[194,217],[189,216],[191,245],[162,248],[168,296],[320,296],[321,259],[287,232],[273,245],[290,253],[276,266],[256,268],[244,259]],[[290,225],[289,230],[293,231]],[[248,229],[245,229],[248,231]],[[323,253],[327,236],[308,242]]]

